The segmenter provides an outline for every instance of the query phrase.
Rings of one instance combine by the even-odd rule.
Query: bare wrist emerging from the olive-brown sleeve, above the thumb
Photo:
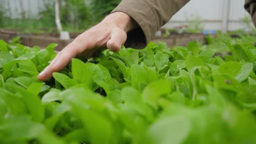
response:
[[[117,25],[117,27],[123,29],[125,32],[129,32],[138,27],[137,22],[131,18],[131,16],[121,11],[117,11],[106,16],[103,22],[114,23]]]

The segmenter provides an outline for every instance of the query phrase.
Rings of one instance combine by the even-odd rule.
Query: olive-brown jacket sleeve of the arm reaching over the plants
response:
[[[157,32],[189,0],[122,0],[112,13],[122,11],[139,27],[128,32],[126,47],[144,48]]]

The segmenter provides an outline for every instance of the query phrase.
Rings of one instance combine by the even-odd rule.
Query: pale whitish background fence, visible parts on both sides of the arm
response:
[[[0,0],[9,9],[8,13],[12,18],[21,17],[21,2],[26,16],[36,18],[44,1]],[[249,16],[243,5],[244,0],[191,0],[164,27],[173,28],[187,24],[188,20],[199,19],[206,30],[233,31],[243,28],[241,19]]]

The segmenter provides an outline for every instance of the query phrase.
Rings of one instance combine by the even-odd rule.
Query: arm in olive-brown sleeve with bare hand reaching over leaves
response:
[[[123,0],[115,10],[96,26],[67,45],[40,75],[48,80],[53,72],[64,68],[75,56],[91,57],[104,47],[117,52],[126,46],[144,48],[155,32],[167,23],[188,0]],[[128,34],[126,34],[128,32]]]

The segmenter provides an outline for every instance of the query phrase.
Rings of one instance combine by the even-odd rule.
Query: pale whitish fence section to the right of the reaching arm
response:
[[[244,3],[244,0],[190,0],[164,27],[177,27],[187,24],[187,20],[199,18],[205,29],[221,30],[227,16],[227,30],[240,29],[244,27],[241,19],[249,16]]]

